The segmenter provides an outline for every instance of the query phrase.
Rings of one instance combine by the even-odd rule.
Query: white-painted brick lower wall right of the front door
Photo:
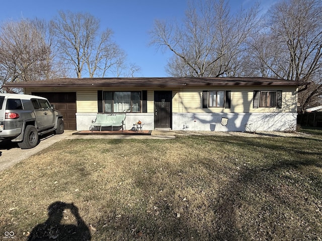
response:
[[[221,125],[222,118],[227,125]],[[258,132],[295,131],[296,113],[173,113],[173,130]]]

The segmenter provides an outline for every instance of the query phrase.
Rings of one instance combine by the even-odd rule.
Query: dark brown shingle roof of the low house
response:
[[[6,83],[4,87],[106,87],[106,86],[220,86],[220,85],[306,85],[305,82],[296,82],[284,79],[259,77],[140,77],[140,78],[59,78],[28,82]]]

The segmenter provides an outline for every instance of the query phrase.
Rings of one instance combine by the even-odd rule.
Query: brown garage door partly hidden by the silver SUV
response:
[[[76,92],[32,92],[45,97],[64,117],[65,130],[76,130]]]

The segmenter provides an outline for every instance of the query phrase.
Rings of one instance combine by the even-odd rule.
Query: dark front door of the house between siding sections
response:
[[[154,127],[172,128],[172,91],[154,91]]]

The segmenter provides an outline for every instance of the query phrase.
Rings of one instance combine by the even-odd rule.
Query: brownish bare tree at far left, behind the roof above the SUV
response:
[[[53,68],[51,39],[44,21],[9,21],[0,28],[1,84],[48,79],[57,74]]]

